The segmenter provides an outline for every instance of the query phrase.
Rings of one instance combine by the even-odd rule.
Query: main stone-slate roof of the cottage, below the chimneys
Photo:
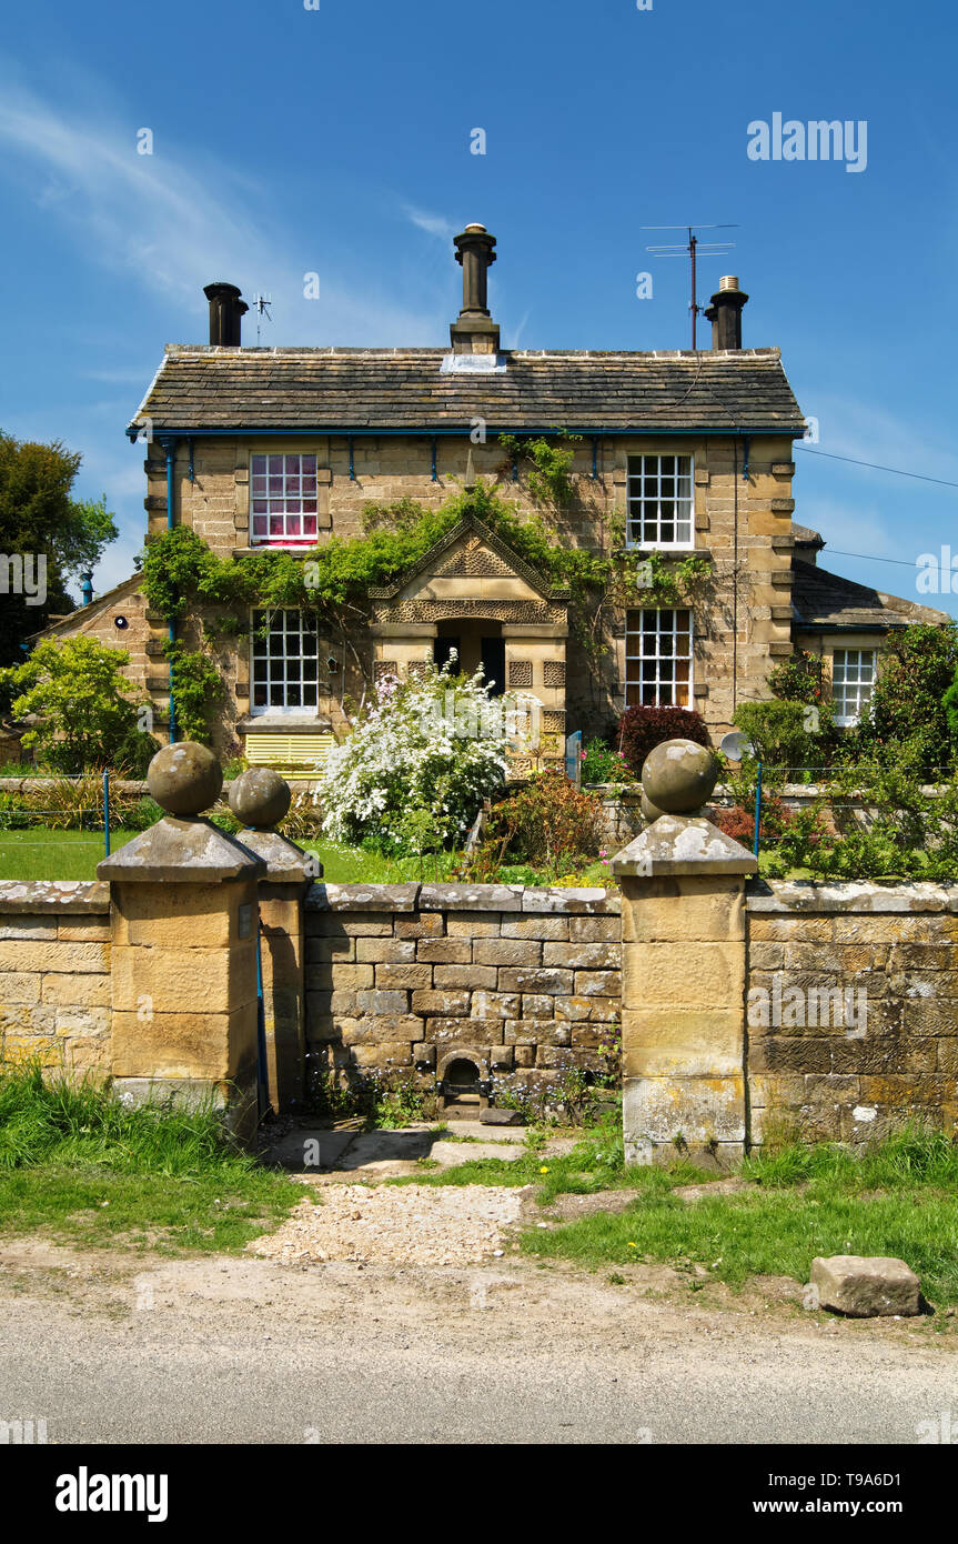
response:
[[[494,369],[450,369],[450,358],[443,349],[170,344],[137,418],[151,420],[154,437],[256,429],[441,434],[467,432],[474,418],[484,418],[491,432],[804,431],[779,349],[526,349],[498,355]]]

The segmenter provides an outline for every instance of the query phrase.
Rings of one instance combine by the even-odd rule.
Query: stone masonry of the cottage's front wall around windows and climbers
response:
[[[512,468],[495,442],[472,445],[461,438],[440,437],[437,472],[432,476],[427,435],[356,435],[350,477],[346,437],[301,435],[288,440],[204,438],[190,452],[180,442],[176,452],[176,519],[193,527],[210,547],[227,554],[247,550],[250,542],[248,468],[256,451],[299,451],[318,457],[319,540],[350,537],[363,530],[363,506],[369,502],[415,499],[438,508],[460,493],[469,457],[477,477],[495,480],[500,494],[514,500],[525,514],[541,513],[531,497],[525,472],[512,480]],[[737,624],[737,695],[764,696],[765,678],[778,658],[791,653],[791,440],[788,435],[753,438],[748,476],[744,476],[742,446],[725,437],[611,435],[595,445],[585,437],[574,446],[574,497],[563,511],[549,511],[558,540],[569,547],[599,548],[606,540],[611,517],[625,513],[628,457],[646,454],[691,454],[694,459],[696,550],[707,553],[714,579],[702,596],[694,627],[694,696],[691,706],[705,718],[713,736],[731,727],[733,682],[730,638]],[[145,462],[147,510],[151,534],[167,527],[167,465],[159,445]],[[733,585],[733,576],[736,584]],[[63,624],[69,628],[69,624]],[[188,630],[187,630],[188,633]],[[63,635],[66,636],[66,633]],[[165,638],[160,619],[153,619],[150,648],[159,650]],[[190,642],[190,639],[187,639]],[[336,639],[330,639],[335,645]],[[352,648],[344,652],[342,687],[322,699],[321,712],[341,721],[342,690],[363,695],[364,678],[372,672],[366,635],[353,639],[361,669]],[[566,675],[566,727],[586,735],[605,732],[623,707],[625,692],[625,615],[616,619],[606,639],[608,652],[599,670],[569,639]],[[423,644],[423,658],[430,642]],[[218,726],[218,749],[236,749],[234,726],[248,710],[248,645],[218,645],[228,693]],[[164,682],[151,672],[157,710],[164,707]]]

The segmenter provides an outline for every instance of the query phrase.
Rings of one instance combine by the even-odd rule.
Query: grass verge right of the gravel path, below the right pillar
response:
[[[787,1147],[748,1160],[740,1173],[754,1189],[688,1203],[676,1189],[714,1175],[686,1163],[626,1169],[606,1129],[588,1133],[563,1158],[541,1158],[531,1146],[515,1163],[466,1161],[435,1173],[424,1167],[418,1183],[537,1184],[546,1212],[560,1194],[634,1189],[622,1212],[595,1212],[521,1238],[529,1255],[591,1269],[642,1260],[697,1265],[734,1288],[754,1275],[807,1282],[815,1255],[898,1255],[935,1308],[958,1303],[958,1146],[949,1138],[906,1130],[859,1156],[832,1146]]]

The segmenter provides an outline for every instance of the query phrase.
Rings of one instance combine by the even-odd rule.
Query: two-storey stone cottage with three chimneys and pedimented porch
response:
[[[330,536],[361,534],[369,503],[437,508],[481,479],[523,514],[545,516],[557,542],[657,551],[671,565],[697,554],[707,581],[668,602],[654,588],[622,598],[603,621],[602,659],[589,662],[569,593],[466,519],[415,571],[370,593],[352,636],[315,611],[273,610],[219,642],[218,749],[285,770],[315,766],[342,732],[346,704],[379,673],[443,662],[452,648],[466,669],[483,664],[495,690],[538,699],[532,750],[543,763],[562,758],[571,730],[606,730],[632,704],[694,707],[717,738],[794,645],[825,655],[839,716],[853,721],[889,630],[943,616],[818,567],[822,539],[793,523],[791,449],[805,423],[779,349],[742,347],[739,281],[722,278],[711,296],[710,350],[509,350],[487,306],[495,238],[467,225],[455,256],[463,307],[447,349],[244,347],[239,290],[207,286],[208,344],[167,346],[126,429],[147,448],[147,540],[184,523],[219,556],[305,557]],[[543,510],[526,462],[500,435],[557,431],[574,437],[563,442],[572,497]],[[162,738],[168,625],[136,576],[49,628],[79,631],[136,639],[130,670],[154,699]]]

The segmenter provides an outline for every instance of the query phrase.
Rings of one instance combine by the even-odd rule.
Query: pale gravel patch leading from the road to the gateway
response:
[[[301,1201],[275,1234],[250,1244],[284,1265],[327,1260],[475,1265],[503,1254],[528,1186],[336,1184]]]

